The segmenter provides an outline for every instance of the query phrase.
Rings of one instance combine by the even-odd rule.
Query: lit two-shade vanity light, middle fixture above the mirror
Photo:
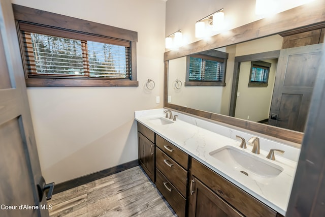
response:
[[[195,37],[203,38],[213,35],[224,27],[223,8],[199,20],[195,24]]]

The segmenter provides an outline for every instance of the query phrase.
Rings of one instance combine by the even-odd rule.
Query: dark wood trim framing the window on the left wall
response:
[[[95,23],[87,20],[82,20],[74,17],[64,16],[51,12],[41,11],[34,8],[28,8],[20,5],[12,4],[14,16],[16,20],[17,29],[19,32],[19,40],[22,42],[22,34],[19,26],[25,28],[30,27],[31,24],[37,24],[39,27],[53,27],[59,32],[68,30],[68,33],[74,36],[87,37],[87,40],[101,42],[101,38],[109,38],[111,42],[125,41],[131,47],[132,58],[132,80],[118,80],[118,79],[98,79],[98,78],[32,78],[25,76],[27,87],[91,87],[91,86],[139,86],[137,81],[137,46],[138,33],[122,29],[114,26],[109,26],[101,23]],[[78,38],[79,39],[79,38]],[[23,53],[21,47],[21,52]],[[24,64],[25,65],[25,64]],[[24,66],[26,72],[26,67]]]

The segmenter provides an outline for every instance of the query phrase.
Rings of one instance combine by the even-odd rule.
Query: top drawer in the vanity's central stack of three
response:
[[[188,169],[188,154],[168,142],[164,138],[156,135],[156,145],[163,150],[169,157],[177,161],[186,170]]]

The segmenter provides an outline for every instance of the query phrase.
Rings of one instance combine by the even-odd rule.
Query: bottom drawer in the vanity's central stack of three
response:
[[[156,169],[156,187],[173,207],[177,215],[180,217],[185,216],[186,200],[158,169]]]

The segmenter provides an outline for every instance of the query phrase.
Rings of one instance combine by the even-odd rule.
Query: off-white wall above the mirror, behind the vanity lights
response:
[[[274,1],[278,3],[276,11],[281,12],[306,2],[323,0]],[[228,29],[259,20],[263,16],[255,15],[255,2],[256,0],[168,0],[166,3],[166,36],[181,29],[185,44],[198,41],[200,39],[195,38],[195,23],[222,8],[224,22]]]

